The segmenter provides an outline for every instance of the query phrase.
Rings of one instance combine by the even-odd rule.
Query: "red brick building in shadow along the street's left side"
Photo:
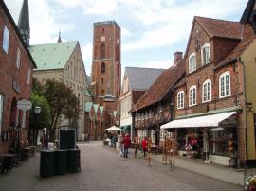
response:
[[[25,8],[24,8],[25,7]],[[27,1],[23,9],[28,9]],[[21,17],[23,15],[21,14]],[[22,23],[21,17],[19,24]],[[22,25],[19,25],[21,28]],[[29,31],[27,31],[29,34]],[[29,39],[28,39],[29,40]],[[29,41],[28,41],[29,42]],[[28,111],[17,109],[17,102],[30,99],[31,76],[36,68],[9,9],[0,1],[0,151],[8,151],[15,134],[27,140]]]

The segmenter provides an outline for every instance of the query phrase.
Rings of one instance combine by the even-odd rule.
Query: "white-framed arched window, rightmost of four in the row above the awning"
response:
[[[229,71],[221,74],[219,78],[219,96],[220,98],[230,96],[231,88],[230,88],[230,73]]]

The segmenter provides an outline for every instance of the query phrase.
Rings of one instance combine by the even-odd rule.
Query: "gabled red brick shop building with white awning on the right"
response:
[[[245,165],[246,103],[239,58],[254,39],[248,24],[194,17],[184,58],[186,77],[174,87],[174,121],[161,127],[177,131],[180,151],[224,165],[233,157]],[[196,141],[190,148],[191,140]]]

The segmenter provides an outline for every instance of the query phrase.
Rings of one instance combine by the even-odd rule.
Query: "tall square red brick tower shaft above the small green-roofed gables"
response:
[[[95,101],[112,95],[121,86],[120,27],[115,21],[94,23],[91,89]]]

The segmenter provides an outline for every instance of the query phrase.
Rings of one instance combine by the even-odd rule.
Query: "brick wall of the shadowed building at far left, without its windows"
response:
[[[28,69],[33,70],[33,63],[29,59],[26,48],[21,42],[21,38],[16,33],[15,27],[13,26],[6,14],[5,9],[0,7],[0,94],[4,96],[4,111],[2,116],[2,131],[9,131],[10,128],[10,108],[11,101],[16,99],[30,99],[31,81],[27,84]],[[3,31],[4,26],[9,29],[9,52],[8,54],[3,50]],[[16,67],[17,49],[21,51],[21,65],[20,69]],[[12,88],[12,82],[16,81],[19,85],[19,91],[15,91]],[[28,119],[28,113],[27,113]],[[21,139],[27,140],[28,122],[26,128],[22,129]],[[10,142],[2,142],[0,139],[0,151],[7,151]]]

